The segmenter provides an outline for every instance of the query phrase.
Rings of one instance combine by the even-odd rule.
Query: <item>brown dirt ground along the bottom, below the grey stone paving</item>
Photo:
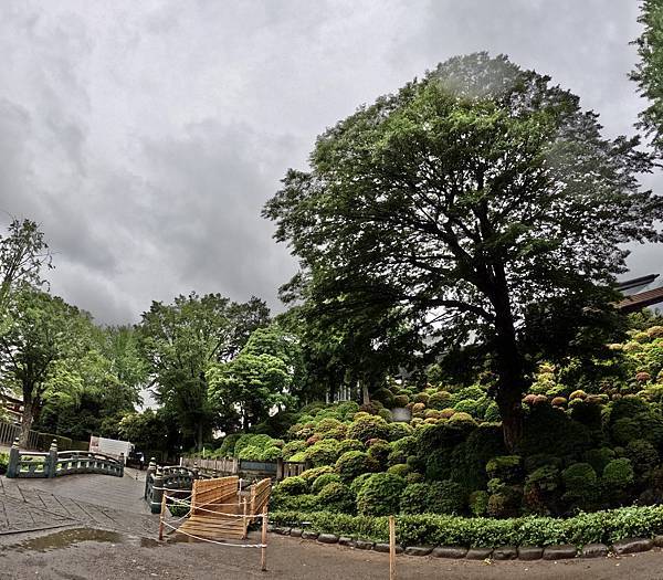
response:
[[[253,538],[257,539],[257,538]],[[387,555],[320,546],[270,536],[267,572],[260,570],[260,550],[200,542],[141,539],[90,528],[0,537],[0,579],[245,579],[336,580],[385,579]],[[663,553],[653,550],[623,558],[559,562],[475,562],[399,556],[399,580],[522,579],[663,579]]]

